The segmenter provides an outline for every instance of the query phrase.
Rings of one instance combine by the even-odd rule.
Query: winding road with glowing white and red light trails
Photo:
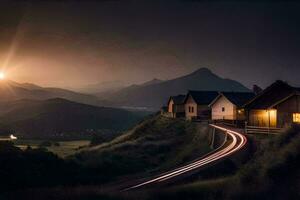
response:
[[[221,160],[225,157],[228,157],[231,154],[239,151],[247,143],[247,138],[243,134],[237,132],[236,130],[233,130],[233,129],[227,128],[227,127],[222,127],[219,125],[214,125],[214,124],[210,124],[210,126],[227,133],[228,137],[231,137],[232,142],[230,144],[228,144],[226,147],[220,148],[217,151],[215,151],[211,154],[208,154],[204,158],[201,158],[190,164],[187,164],[180,168],[177,168],[172,171],[161,174],[161,175],[157,176],[156,178],[153,178],[148,181],[142,182],[140,184],[126,188],[123,191],[133,190],[133,189],[141,188],[141,187],[144,187],[144,186],[147,186],[150,184],[160,183],[160,182],[164,182],[164,181],[170,180],[175,177],[179,177],[183,174],[186,174],[188,172],[191,172],[193,170],[199,169],[203,166],[206,166],[208,164],[211,164],[213,162]]]

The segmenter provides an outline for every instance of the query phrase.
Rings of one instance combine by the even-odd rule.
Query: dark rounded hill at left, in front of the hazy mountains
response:
[[[26,137],[121,131],[142,118],[122,109],[96,107],[60,98],[19,100],[0,106],[0,110],[0,127]]]

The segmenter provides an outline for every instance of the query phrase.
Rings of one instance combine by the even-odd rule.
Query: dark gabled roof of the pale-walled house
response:
[[[220,92],[209,106],[212,106],[222,96],[237,107],[242,107],[245,103],[253,99],[255,94],[252,92]]]

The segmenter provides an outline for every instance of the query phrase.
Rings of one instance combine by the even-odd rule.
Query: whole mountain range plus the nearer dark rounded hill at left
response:
[[[239,82],[221,78],[206,68],[172,80],[153,79],[96,94],[2,80],[0,133],[10,130],[25,136],[45,137],[87,130],[120,131],[144,115],[112,107],[157,110],[169,96],[188,90],[249,91]]]

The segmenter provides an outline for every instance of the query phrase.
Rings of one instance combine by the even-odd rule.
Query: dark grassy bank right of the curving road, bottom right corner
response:
[[[299,199],[300,126],[274,137],[250,136],[256,153],[233,175],[151,191],[147,199]]]

